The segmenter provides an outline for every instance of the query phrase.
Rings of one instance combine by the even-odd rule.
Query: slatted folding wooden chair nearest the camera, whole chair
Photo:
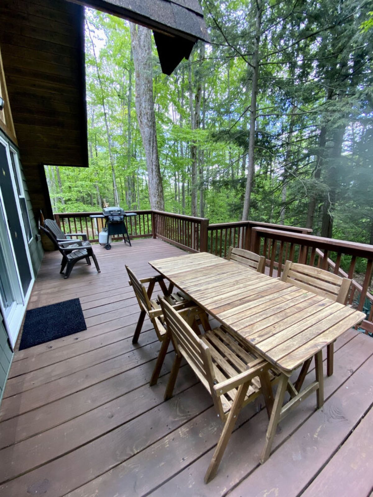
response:
[[[250,353],[223,328],[215,328],[198,337],[165,299],[161,299],[161,307],[167,333],[171,335],[176,352],[165,400],[172,397],[184,357],[211,395],[217,415],[224,422],[204,477],[205,483],[208,483],[216,475],[242,407],[263,394],[270,416],[273,405],[272,382],[277,377],[270,371],[270,364],[266,360]]]

